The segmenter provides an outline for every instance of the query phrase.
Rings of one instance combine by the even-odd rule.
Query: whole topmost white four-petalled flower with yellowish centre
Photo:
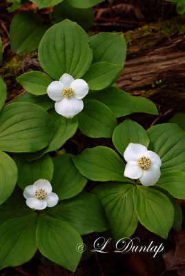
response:
[[[73,79],[69,74],[52,81],[47,88],[50,99],[56,101],[55,110],[66,118],[72,118],[84,108],[82,98],[88,94],[88,83],[84,79]]]

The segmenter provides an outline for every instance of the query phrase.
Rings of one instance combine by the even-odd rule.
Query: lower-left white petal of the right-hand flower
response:
[[[139,167],[138,162],[136,161],[129,161],[126,164],[124,176],[129,177],[131,179],[138,179],[142,177],[143,170]]]

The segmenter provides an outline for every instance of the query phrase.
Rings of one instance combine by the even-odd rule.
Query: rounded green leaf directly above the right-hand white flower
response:
[[[113,144],[119,153],[124,155],[124,151],[130,143],[142,144],[148,148],[150,139],[142,126],[135,121],[126,119],[115,128],[113,132]]]

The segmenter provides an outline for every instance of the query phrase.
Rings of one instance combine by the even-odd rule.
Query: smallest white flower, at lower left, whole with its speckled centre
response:
[[[27,199],[26,204],[33,210],[53,207],[59,201],[59,197],[52,193],[52,186],[46,179],[39,179],[33,185],[26,186],[23,196]]]

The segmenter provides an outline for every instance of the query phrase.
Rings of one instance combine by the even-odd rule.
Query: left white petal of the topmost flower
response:
[[[53,101],[60,101],[63,95],[64,85],[60,81],[52,81],[47,88],[47,93]]]

